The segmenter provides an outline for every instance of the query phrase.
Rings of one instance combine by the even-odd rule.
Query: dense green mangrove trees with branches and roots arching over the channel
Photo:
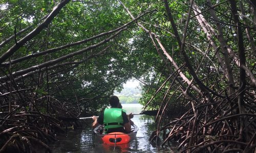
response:
[[[254,1],[4,0],[0,17],[0,152],[50,151],[54,132],[132,78],[159,109],[152,142],[253,151]]]

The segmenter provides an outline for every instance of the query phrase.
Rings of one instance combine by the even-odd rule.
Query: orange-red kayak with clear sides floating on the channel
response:
[[[105,144],[125,144],[129,143],[136,138],[138,126],[132,125],[131,133],[112,132],[104,134],[104,127],[102,125],[97,126],[93,132],[95,134],[95,141]]]

